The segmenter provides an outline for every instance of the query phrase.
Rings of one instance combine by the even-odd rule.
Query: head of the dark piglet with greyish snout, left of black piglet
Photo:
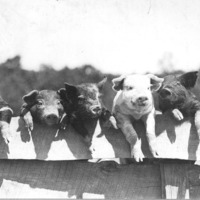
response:
[[[53,90],[33,90],[22,98],[30,107],[33,121],[53,126],[59,123],[64,108],[59,94]]]

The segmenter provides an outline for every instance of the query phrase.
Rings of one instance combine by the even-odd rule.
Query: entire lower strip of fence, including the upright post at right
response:
[[[200,166],[180,160],[1,160],[1,198],[199,199]]]

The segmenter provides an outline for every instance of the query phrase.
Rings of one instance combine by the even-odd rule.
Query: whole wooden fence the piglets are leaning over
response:
[[[133,163],[120,130],[97,126],[90,152],[70,126],[60,132],[35,126],[30,133],[20,118],[13,118],[10,143],[0,139],[0,197],[199,199],[193,120],[176,122],[169,114],[157,114],[156,122],[161,158],[152,158],[144,127],[136,123],[146,159]],[[119,164],[124,158],[129,164]]]

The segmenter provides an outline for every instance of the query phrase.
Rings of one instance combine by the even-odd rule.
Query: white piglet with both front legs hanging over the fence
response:
[[[141,141],[132,125],[135,120],[142,119],[146,126],[146,134],[150,150],[156,157],[155,108],[152,90],[157,90],[163,79],[155,75],[132,74],[113,79],[113,89],[117,94],[113,102],[113,114],[118,127],[124,133],[131,146],[131,156],[138,162],[144,155]]]

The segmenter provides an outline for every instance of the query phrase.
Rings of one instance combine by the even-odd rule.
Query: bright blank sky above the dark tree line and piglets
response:
[[[199,0],[0,0],[0,62],[105,73],[200,68]]]

